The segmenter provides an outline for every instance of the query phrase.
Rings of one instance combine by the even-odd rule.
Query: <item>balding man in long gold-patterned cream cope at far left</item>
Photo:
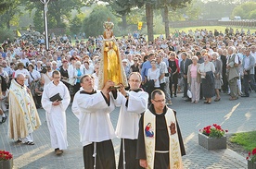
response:
[[[32,132],[41,125],[41,122],[23,74],[18,74],[17,78],[11,81],[8,119],[9,138],[34,145]]]

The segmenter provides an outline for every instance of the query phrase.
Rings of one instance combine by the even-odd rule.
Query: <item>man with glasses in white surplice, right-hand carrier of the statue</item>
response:
[[[130,91],[125,91],[122,84],[119,92],[113,91],[115,105],[121,106],[116,128],[117,137],[121,139],[118,168],[139,169],[139,161],[135,159],[138,122],[147,110],[148,94],[140,89],[142,78],[138,72],[132,72],[128,79]]]

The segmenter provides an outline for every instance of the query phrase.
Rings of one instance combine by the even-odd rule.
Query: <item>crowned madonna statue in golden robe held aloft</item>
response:
[[[104,34],[102,44],[102,57],[99,63],[98,89],[101,90],[107,80],[112,80],[115,87],[122,83],[128,87],[127,78],[122,66],[122,58],[119,53],[119,46],[113,37],[113,22],[104,23]]]

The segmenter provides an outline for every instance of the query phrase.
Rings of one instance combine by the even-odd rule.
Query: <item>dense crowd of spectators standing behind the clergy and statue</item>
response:
[[[191,103],[202,98],[204,103],[211,103],[213,96],[215,102],[221,100],[220,92],[229,93],[233,101],[239,95],[249,97],[250,91],[256,90],[256,38],[250,30],[175,30],[170,37],[160,35],[153,42],[134,31],[116,39],[126,76],[140,72],[142,88],[148,93],[164,91],[166,103],[172,104],[171,98],[179,92]],[[54,70],[60,71],[71,96],[79,91],[83,74],[95,78],[97,89],[102,40],[97,36],[71,42],[66,35],[52,34],[49,50],[43,43],[7,40],[0,48],[0,75],[10,84],[23,73],[38,108]]]

